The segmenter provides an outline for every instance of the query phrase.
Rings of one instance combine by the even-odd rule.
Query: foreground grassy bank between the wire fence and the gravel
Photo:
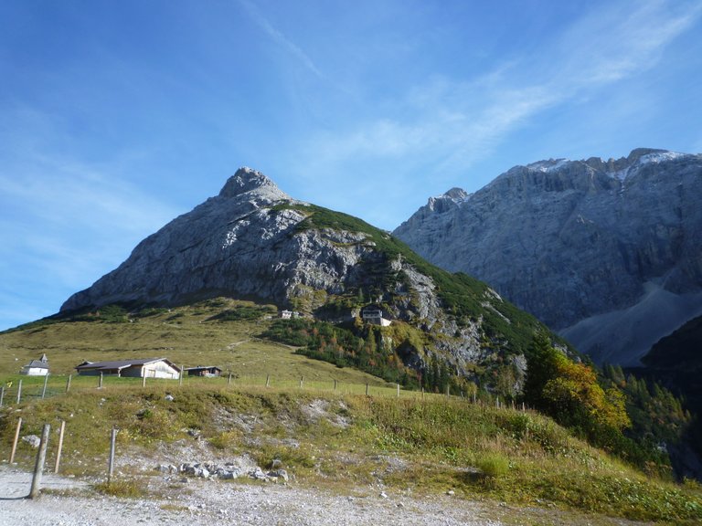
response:
[[[118,456],[188,447],[200,432],[208,458],[249,454],[266,468],[273,458],[296,483],[356,491],[380,480],[415,496],[445,493],[555,506],[642,521],[702,521],[699,485],[644,476],[572,437],[552,420],[532,413],[473,405],[445,396],[397,393],[377,387],[371,396],[312,384],[288,387],[189,382],[183,387],[122,381],[101,390],[5,406],[0,410],[0,457],[8,455],[16,421],[23,433],[67,422],[62,472],[103,475],[112,426]],[[174,395],[167,401],[165,394]],[[16,459],[30,468],[35,455],[24,444]],[[187,458],[193,460],[193,458]],[[154,458],[154,464],[162,460]],[[137,487],[138,481],[126,481]],[[129,489],[129,488],[127,488]],[[117,489],[114,489],[117,491]]]

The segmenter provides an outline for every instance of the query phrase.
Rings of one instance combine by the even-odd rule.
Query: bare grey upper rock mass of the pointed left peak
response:
[[[372,247],[356,233],[298,232],[307,216],[302,205],[265,175],[242,168],[217,197],[144,239],[119,268],[61,310],[115,302],[177,305],[218,295],[285,305],[305,288],[338,293]]]

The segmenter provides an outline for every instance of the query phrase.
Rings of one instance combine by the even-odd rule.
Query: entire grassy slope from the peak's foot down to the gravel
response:
[[[218,299],[128,313],[127,321],[52,320],[1,333],[0,457],[9,457],[19,417],[22,436],[51,425],[49,463],[66,421],[61,469],[79,476],[104,475],[112,426],[120,429],[118,451],[139,455],[187,445],[195,440],[187,430],[195,428],[213,458],[248,453],[263,467],[279,458],[302,484],[350,490],[380,479],[415,495],[455,489],[459,497],[519,506],[702,521],[699,485],[646,477],[536,414],[404,390],[398,397],[396,386],[374,376],[261,339],[272,320],[247,318],[265,311],[272,309]],[[220,312],[236,314],[217,318]],[[17,371],[43,352],[51,375],[42,400],[44,378]],[[141,379],[105,377],[101,389],[97,377],[73,376],[66,393],[78,363],[131,357],[217,365],[225,373],[186,377],[182,385],[148,380],[145,388]],[[16,461],[31,468],[35,454],[20,442]]]

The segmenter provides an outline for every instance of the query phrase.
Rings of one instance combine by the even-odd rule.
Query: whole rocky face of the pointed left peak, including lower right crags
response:
[[[435,354],[465,372],[494,353],[497,343],[522,352],[523,343],[512,344],[499,330],[508,327],[504,312],[514,307],[484,284],[453,279],[388,233],[296,201],[265,175],[242,168],[219,195],[145,238],[119,268],[71,296],[61,310],[111,303],[175,306],[227,296],[334,319],[339,305],[361,295],[430,335],[430,343],[408,357],[418,367]],[[470,298],[456,300],[460,290]],[[485,324],[491,324],[488,330]],[[520,342],[528,342],[537,321],[520,318],[518,325],[524,331]]]

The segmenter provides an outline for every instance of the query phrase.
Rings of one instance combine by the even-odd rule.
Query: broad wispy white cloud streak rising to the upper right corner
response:
[[[431,155],[437,169],[466,169],[544,110],[656,67],[676,37],[702,16],[699,3],[665,0],[598,7],[536,54],[513,59],[477,79],[434,78],[415,86],[394,111],[310,142],[314,163],[368,156]]]

